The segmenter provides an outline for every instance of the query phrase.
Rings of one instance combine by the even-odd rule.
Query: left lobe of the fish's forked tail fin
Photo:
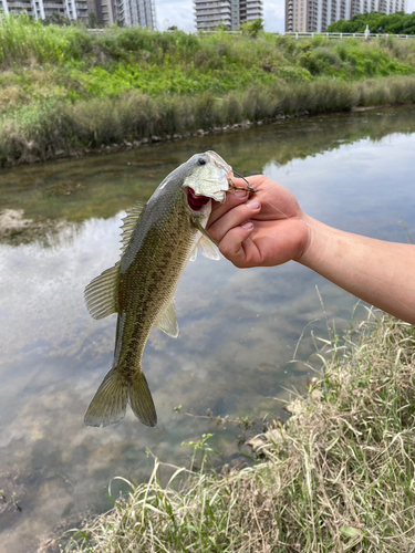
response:
[[[108,426],[125,417],[128,401],[128,385],[113,367],[96,390],[84,422],[86,426]]]

